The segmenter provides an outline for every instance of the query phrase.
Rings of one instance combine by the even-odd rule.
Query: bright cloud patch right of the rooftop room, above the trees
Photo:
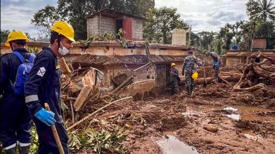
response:
[[[155,0],[156,7],[176,7],[194,31],[218,31],[226,23],[247,19],[246,0]]]

